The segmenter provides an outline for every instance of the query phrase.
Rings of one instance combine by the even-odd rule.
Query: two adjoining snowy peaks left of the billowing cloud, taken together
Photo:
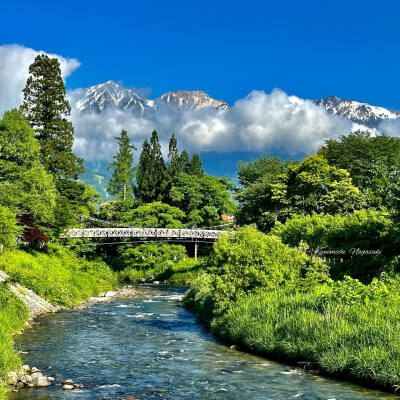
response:
[[[176,90],[165,93],[154,101],[139,91],[124,88],[114,81],[107,81],[85,89],[82,96],[75,101],[75,107],[85,113],[101,113],[109,109],[143,113],[146,110],[156,110],[160,102],[174,104],[182,109],[199,110],[214,107],[226,110],[229,108],[225,101],[215,100],[202,91]]]

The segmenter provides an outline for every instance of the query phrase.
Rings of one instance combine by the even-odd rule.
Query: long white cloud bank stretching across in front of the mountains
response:
[[[81,95],[81,91],[71,92],[71,102]],[[279,89],[270,94],[253,91],[225,111],[207,108],[182,112],[164,104],[143,116],[115,110],[82,114],[75,109],[71,117],[77,137],[75,150],[89,160],[110,159],[116,150],[114,136],[122,129],[138,147],[156,129],[164,146],[175,132],[180,147],[189,151],[276,150],[300,154],[317,150],[327,138],[360,128],[310,100],[288,96]]]

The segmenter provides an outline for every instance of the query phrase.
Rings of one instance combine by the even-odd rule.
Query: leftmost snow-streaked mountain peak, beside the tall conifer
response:
[[[83,97],[76,102],[76,108],[79,111],[90,113],[101,113],[108,109],[143,112],[147,107],[154,107],[154,101],[114,81],[107,81],[85,89]]]

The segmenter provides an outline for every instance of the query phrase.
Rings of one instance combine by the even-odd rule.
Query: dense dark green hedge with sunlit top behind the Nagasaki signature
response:
[[[373,210],[295,216],[272,233],[290,246],[306,243],[311,254],[327,257],[335,279],[350,275],[370,282],[396,262],[398,234],[387,216]]]

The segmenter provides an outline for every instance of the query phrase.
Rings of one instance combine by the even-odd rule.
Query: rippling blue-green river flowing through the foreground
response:
[[[137,290],[134,298],[39,318],[16,338],[17,347],[26,363],[61,376],[48,388],[12,393],[10,400],[399,398],[231,350],[178,307],[184,290]],[[84,388],[63,391],[62,379]]]

